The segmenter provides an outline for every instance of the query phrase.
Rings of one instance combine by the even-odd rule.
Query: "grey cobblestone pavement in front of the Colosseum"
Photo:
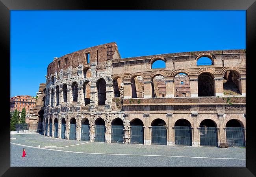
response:
[[[245,167],[246,148],[185,147],[84,142],[46,137],[40,134],[11,135],[11,167]],[[26,146],[19,146],[22,144]],[[57,148],[34,148],[57,146]],[[71,146],[75,145],[75,146]],[[65,147],[69,146],[69,147]],[[59,147],[59,148],[58,148]],[[22,148],[26,157],[22,158]],[[89,154],[88,154],[89,153]],[[90,154],[104,153],[104,154]],[[109,155],[111,154],[111,155]],[[158,155],[158,156],[147,156]],[[161,155],[161,156],[160,156]],[[179,156],[179,157],[169,157]],[[196,157],[196,158],[195,158]],[[205,157],[205,158],[198,158]],[[221,158],[221,159],[211,159]],[[226,159],[223,159],[226,158]]]

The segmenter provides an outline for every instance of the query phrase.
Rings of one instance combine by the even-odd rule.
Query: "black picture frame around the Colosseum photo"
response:
[[[156,10],[246,10],[246,52],[247,52],[247,147],[246,147],[246,168],[167,168],[167,169],[138,169],[142,173],[151,172],[157,170],[161,173],[167,173],[167,175],[174,175],[178,172],[179,175],[191,175],[191,176],[256,176],[256,134],[254,131],[254,116],[252,114],[252,106],[255,104],[254,99],[250,96],[253,95],[253,70],[255,57],[253,56],[255,50],[256,41],[256,2],[255,0],[147,0],[147,1],[127,1],[121,5],[120,1],[83,1],[83,0],[0,0],[0,29],[1,29],[1,48],[2,48],[2,60],[4,63],[2,66],[2,88],[3,92],[8,93],[10,88],[10,80],[5,68],[10,68],[10,10],[79,10],[79,9],[121,9],[121,10],[144,10],[144,9],[156,9]],[[209,22],[211,24],[211,22]],[[195,22],[198,25],[198,22]],[[214,24],[213,24],[214,25]],[[196,39],[195,39],[196,40]],[[6,74],[4,74],[6,73]],[[10,72],[9,72],[10,73]],[[8,84],[9,83],[9,84]],[[2,93],[3,93],[2,92]],[[2,94],[4,100],[9,100],[10,95]],[[7,107],[8,103],[3,104]],[[67,175],[68,171],[75,170],[74,168],[10,168],[10,140],[9,140],[9,116],[7,110],[4,109],[6,114],[2,115],[2,126],[0,130],[0,175],[2,176],[51,176],[54,171],[58,173],[58,176]],[[117,174],[124,175],[124,171],[133,171],[132,169],[115,168],[118,170]],[[77,170],[77,169],[76,169]],[[81,171],[85,171],[83,168],[79,168]],[[94,174],[98,175],[97,171],[102,171],[106,175],[111,173],[113,168],[99,168],[99,170],[93,169]],[[157,172],[157,173],[158,173]],[[79,175],[79,173],[72,172],[73,175]],[[137,173],[137,172],[136,172]],[[129,174],[129,173],[128,173]],[[89,175],[89,173],[85,173]],[[93,175],[93,174],[91,174]],[[113,175],[113,173],[112,173]],[[133,175],[130,173],[130,175]]]

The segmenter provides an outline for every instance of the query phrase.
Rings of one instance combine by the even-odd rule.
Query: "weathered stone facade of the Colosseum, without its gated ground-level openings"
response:
[[[209,57],[213,65],[197,66],[200,57]],[[163,60],[165,68],[152,69],[156,60]],[[226,72],[238,76],[234,81],[239,89],[238,96],[224,96]],[[174,77],[180,73],[187,75],[186,84],[189,83],[189,94],[185,98],[176,98],[175,95]],[[158,85],[161,87],[156,87],[156,76],[164,78],[165,89],[160,81]],[[75,139],[80,140],[82,122],[88,119],[89,138],[94,141],[95,121],[101,118],[106,127],[105,140],[111,142],[111,123],[121,119],[123,142],[131,143],[131,124],[141,120],[143,142],[152,144],[151,127],[156,124],[154,120],[161,119],[166,125],[166,144],[175,145],[175,126],[178,125],[175,123],[187,121],[186,125],[191,126],[192,146],[200,146],[200,123],[210,119],[215,124],[218,143],[221,143],[226,142],[229,120],[238,121],[245,129],[245,97],[245,50],[169,53],[121,59],[117,44],[112,42],[55,58],[48,65],[43,133],[49,136],[49,123],[52,122],[51,136],[58,129],[56,136],[61,138],[61,124],[65,122],[65,138],[69,139],[71,121],[76,126]]]

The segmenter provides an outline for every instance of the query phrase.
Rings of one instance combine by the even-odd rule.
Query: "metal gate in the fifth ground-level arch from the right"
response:
[[[144,144],[144,129],[143,126],[131,126],[131,144]]]

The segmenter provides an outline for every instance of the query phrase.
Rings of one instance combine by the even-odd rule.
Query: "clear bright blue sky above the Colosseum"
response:
[[[11,11],[10,96],[35,96],[54,57],[117,42],[122,58],[246,49],[246,11]]]

